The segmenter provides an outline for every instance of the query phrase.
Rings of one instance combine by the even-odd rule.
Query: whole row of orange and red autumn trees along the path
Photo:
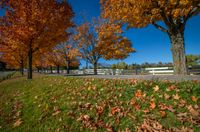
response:
[[[135,52],[123,35],[124,27],[149,24],[167,33],[171,40],[175,74],[187,74],[184,30],[186,22],[200,12],[192,0],[101,0],[101,17],[76,25],[76,15],[66,0],[1,0],[0,58],[9,66],[33,68],[78,66],[84,59],[94,67],[100,58],[124,59]],[[120,8],[120,9],[119,9]],[[159,25],[162,22],[164,26]]]

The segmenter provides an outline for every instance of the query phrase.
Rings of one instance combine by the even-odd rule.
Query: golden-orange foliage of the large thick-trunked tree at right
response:
[[[101,0],[102,16],[120,20],[128,27],[144,27],[155,21],[188,19],[199,12],[199,0]]]

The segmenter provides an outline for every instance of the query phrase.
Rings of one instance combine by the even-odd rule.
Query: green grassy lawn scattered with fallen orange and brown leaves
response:
[[[0,83],[0,131],[200,131],[200,83],[37,75]]]

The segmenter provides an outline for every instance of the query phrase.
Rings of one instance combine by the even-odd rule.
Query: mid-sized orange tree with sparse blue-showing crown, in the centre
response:
[[[107,26],[108,30],[102,30]],[[93,64],[94,74],[97,75],[97,64],[100,58],[123,59],[133,52],[131,42],[121,36],[121,28],[116,24],[108,24],[101,19],[94,19],[91,23],[84,23],[77,27],[77,41],[83,59]],[[114,32],[114,35],[104,37],[104,34]]]

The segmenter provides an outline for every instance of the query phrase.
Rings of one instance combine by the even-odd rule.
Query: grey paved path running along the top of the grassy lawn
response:
[[[169,81],[200,81],[199,75],[65,75],[73,77],[93,77],[105,79],[138,79],[138,80],[169,80]]]

